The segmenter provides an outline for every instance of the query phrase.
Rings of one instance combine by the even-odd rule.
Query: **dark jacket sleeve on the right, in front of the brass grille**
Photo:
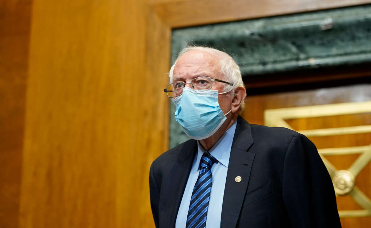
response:
[[[285,155],[282,195],[292,227],[341,228],[331,177],[315,145],[299,133]]]

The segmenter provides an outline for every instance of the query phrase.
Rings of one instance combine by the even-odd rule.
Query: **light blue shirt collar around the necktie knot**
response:
[[[232,142],[233,142],[233,136],[234,131],[236,131],[237,121],[234,121],[232,126],[228,128],[228,130],[221,136],[221,138],[214,144],[213,147],[209,150],[209,153],[215,157],[218,162],[228,167],[229,164],[229,156],[231,152]],[[201,146],[200,142],[197,140],[197,163],[200,164],[202,154],[207,152],[207,150],[204,149],[203,146]]]

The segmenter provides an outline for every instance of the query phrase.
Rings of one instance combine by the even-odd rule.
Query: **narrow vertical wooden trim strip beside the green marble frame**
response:
[[[151,163],[160,154],[168,149],[169,141],[169,100],[163,92],[163,85],[168,83],[168,75],[170,65],[170,38],[171,29],[166,26],[162,20],[149,10],[147,25],[147,41],[146,41],[146,73],[145,82],[150,82],[148,90],[144,92],[143,100],[150,99],[151,102],[145,103],[143,107],[145,122],[144,126],[151,126],[152,130],[147,132],[148,141],[146,146],[140,146],[139,151],[144,150],[146,163],[145,170],[148,176]],[[154,61],[156,59],[156,61]],[[146,176],[146,177],[147,177]],[[141,190],[142,202],[140,226],[139,227],[154,227],[151,209],[146,206],[150,205],[148,178],[143,179],[144,188]],[[138,222],[138,221],[136,221]],[[133,226],[134,227],[134,224]]]

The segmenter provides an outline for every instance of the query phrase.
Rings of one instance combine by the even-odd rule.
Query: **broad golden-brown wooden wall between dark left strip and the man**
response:
[[[34,2],[20,227],[153,224],[148,173],[167,148],[158,88],[170,30],[157,26],[165,33],[148,41],[146,9],[142,1]],[[165,45],[147,48],[159,39]],[[162,59],[146,67],[148,57]]]

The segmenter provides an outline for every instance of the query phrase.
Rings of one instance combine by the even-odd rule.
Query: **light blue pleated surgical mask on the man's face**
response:
[[[226,92],[220,93],[224,94]],[[175,120],[191,139],[207,139],[227,120],[218,102],[218,91],[194,91],[184,87],[183,93],[173,99]]]

